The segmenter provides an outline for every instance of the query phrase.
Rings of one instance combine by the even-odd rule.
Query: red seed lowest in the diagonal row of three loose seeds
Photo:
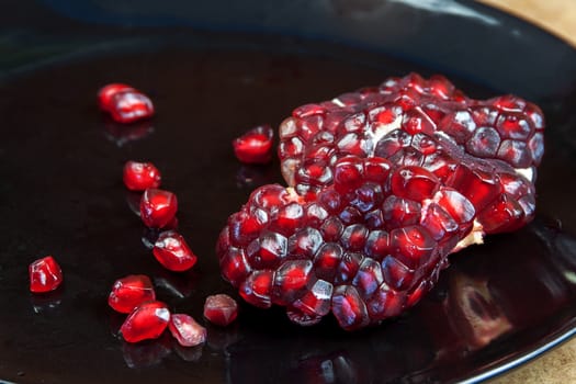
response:
[[[176,272],[191,269],[197,260],[182,235],[176,230],[161,233],[154,245],[153,253],[160,264]]]

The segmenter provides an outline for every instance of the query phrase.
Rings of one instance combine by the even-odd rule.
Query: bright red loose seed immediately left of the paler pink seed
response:
[[[127,342],[138,342],[157,339],[168,327],[170,310],[161,302],[146,302],[126,317],[120,328],[122,337]]]

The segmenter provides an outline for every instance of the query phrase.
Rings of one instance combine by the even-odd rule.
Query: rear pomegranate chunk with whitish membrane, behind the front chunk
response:
[[[473,100],[443,77],[427,80],[411,74],[320,104],[295,109],[280,126],[281,170],[302,196],[313,196],[332,184],[339,177],[334,169],[336,160],[354,155],[383,157],[408,170],[421,167],[444,183],[453,177],[452,182],[462,189],[454,188],[472,197],[478,211],[502,199],[500,178],[505,173],[531,184],[511,205],[533,200],[535,168],[544,151],[544,118],[530,102],[512,95]],[[462,162],[468,174],[459,170],[452,176]],[[323,171],[310,171],[315,169]],[[426,178],[405,180],[398,174],[392,185],[404,197],[400,189],[404,185],[411,191],[408,184],[413,182],[423,188]],[[484,197],[489,201],[478,202]],[[521,227],[533,218],[533,210],[524,206],[522,215],[515,217],[517,223],[502,226],[492,221],[486,231]],[[484,218],[487,215],[482,215]]]

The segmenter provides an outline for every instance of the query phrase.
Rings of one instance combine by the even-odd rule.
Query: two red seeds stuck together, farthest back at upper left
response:
[[[103,87],[98,92],[98,100],[100,109],[117,123],[129,124],[154,115],[150,99],[126,84],[112,83]]]

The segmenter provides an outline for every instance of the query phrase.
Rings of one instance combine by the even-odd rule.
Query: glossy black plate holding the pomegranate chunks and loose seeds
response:
[[[575,332],[576,53],[476,3],[165,0],[20,1],[0,20],[0,380],[19,383],[369,383],[479,381]],[[353,3],[353,5],[351,5]],[[411,5],[410,5],[411,4]],[[432,5],[433,4],[433,5]],[[443,72],[473,97],[515,92],[542,105],[546,155],[538,217],[451,258],[404,316],[347,334],[242,305],[204,348],[170,337],[127,345],[106,305],[112,282],[154,278],[161,300],[201,319],[231,292],[214,244],[229,213],[278,163],[239,165],[230,140],[292,108],[388,76]],[[129,127],[97,110],[124,81],[158,115]],[[153,160],[180,200],[200,262],[162,270],[142,244],[121,170]],[[27,292],[27,264],[52,253],[65,283]]]

